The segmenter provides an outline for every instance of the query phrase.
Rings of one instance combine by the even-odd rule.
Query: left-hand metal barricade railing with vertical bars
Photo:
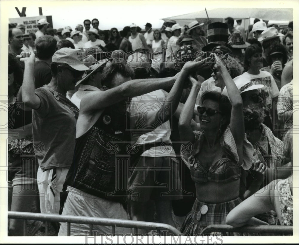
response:
[[[39,214],[29,212],[14,212],[8,211],[9,219],[22,219],[24,221],[23,235],[26,235],[26,220],[41,220],[45,221],[45,236],[48,236],[49,222],[62,222],[67,223],[67,236],[71,235],[71,223],[77,224],[89,224],[89,232],[92,234],[93,225],[111,226],[111,234],[115,235],[115,227],[134,228],[133,235],[138,234],[139,229],[148,230],[167,230],[173,235],[181,235],[178,229],[163,223],[134,221],[134,220],[120,220],[120,219],[108,219],[98,217],[83,217],[74,215],[59,215],[59,214]]]

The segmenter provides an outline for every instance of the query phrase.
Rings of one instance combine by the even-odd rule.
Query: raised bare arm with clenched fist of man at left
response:
[[[35,54],[33,52],[31,52],[31,54],[28,52],[22,52],[20,55],[17,55],[17,58],[20,58],[20,61],[25,63],[24,79],[22,84],[22,101],[25,106],[32,109],[38,109],[41,101],[34,93]]]

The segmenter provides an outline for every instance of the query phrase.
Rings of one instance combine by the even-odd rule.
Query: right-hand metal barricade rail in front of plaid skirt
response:
[[[210,225],[202,231],[202,234],[210,234],[212,232],[292,234],[293,226],[246,225],[234,227],[229,225]]]

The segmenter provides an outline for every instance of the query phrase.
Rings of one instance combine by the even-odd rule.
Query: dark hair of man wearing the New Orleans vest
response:
[[[117,73],[120,73],[123,77],[134,77],[134,71],[127,64],[112,60],[107,63],[101,74],[102,86],[113,87],[112,80]]]

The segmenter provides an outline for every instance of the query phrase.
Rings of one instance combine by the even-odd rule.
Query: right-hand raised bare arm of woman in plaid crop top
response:
[[[243,116],[243,102],[239,90],[234,83],[231,75],[228,73],[225,65],[222,63],[222,58],[214,54],[216,60],[216,68],[220,72],[226,89],[228,97],[231,101],[231,133],[234,137],[237,152],[239,155],[239,162],[243,161],[242,142],[245,137],[244,116]],[[224,57],[225,58],[225,57]]]

